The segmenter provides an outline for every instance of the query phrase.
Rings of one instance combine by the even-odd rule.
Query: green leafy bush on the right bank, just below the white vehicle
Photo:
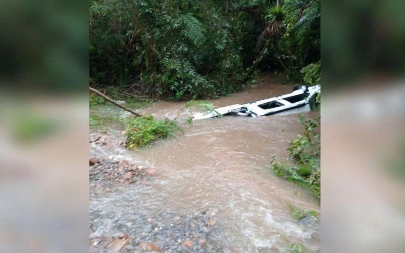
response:
[[[293,163],[276,162],[273,157],[270,168],[277,176],[309,188],[320,198],[320,116],[315,119],[301,116],[301,123],[305,126],[303,134],[298,135],[287,149]]]

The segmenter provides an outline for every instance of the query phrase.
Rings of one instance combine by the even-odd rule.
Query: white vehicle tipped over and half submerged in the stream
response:
[[[239,116],[267,116],[287,111],[302,111],[309,109],[309,100],[320,92],[320,86],[299,86],[290,94],[258,100],[247,104],[235,104],[220,107],[214,111],[196,113],[193,120],[216,117],[219,115],[235,114]]]

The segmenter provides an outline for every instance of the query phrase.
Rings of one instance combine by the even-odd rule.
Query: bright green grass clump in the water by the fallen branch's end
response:
[[[142,147],[155,140],[171,137],[179,131],[181,128],[173,120],[156,120],[152,115],[136,117],[127,124],[125,146]]]

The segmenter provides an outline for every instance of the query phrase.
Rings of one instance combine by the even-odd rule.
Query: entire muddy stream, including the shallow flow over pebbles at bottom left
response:
[[[279,83],[262,76],[247,91],[210,102],[216,107],[242,104],[290,93],[294,87]],[[182,105],[157,102],[139,111],[174,118]],[[109,105],[93,110],[129,116]],[[110,240],[117,244],[114,250],[123,252],[287,252],[292,244],[304,252],[319,251],[319,221],[295,221],[287,204],[319,213],[318,200],[268,168],[272,156],[287,158],[290,141],[303,131],[300,114],[225,116],[196,120],[192,126],[182,116],[183,133],[131,151],[122,145],[124,129],[91,130],[92,136],[105,139],[91,145],[91,156],[153,168],[152,176],[135,183],[91,184],[91,250],[103,251],[101,245]]]

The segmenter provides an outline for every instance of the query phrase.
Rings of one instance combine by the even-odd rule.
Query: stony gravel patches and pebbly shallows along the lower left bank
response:
[[[109,139],[120,138],[108,136],[107,132],[92,133],[90,143],[98,149],[112,149],[114,144]],[[122,145],[121,142],[119,146]],[[119,148],[119,147],[114,147]],[[100,154],[90,158],[89,185],[90,199],[101,194],[114,194],[117,189],[148,188],[158,182],[153,180],[156,170],[145,165],[131,164],[119,160],[116,156],[103,158]],[[98,156],[98,157],[97,157]],[[212,235],[218,238],[215,211],[204,209],[181,214],[167,210],[156,216],[148,217],[143,207],[134,203],[132,220],[114,218],[114,224],[108,232],[99,232],[104,223],[98,219],[99,210],[90,212],[90,252],[212,252],[223,251]],[[101,229],[103,230],[103,228]],[[113,232],[114,231],[114,232]]]

